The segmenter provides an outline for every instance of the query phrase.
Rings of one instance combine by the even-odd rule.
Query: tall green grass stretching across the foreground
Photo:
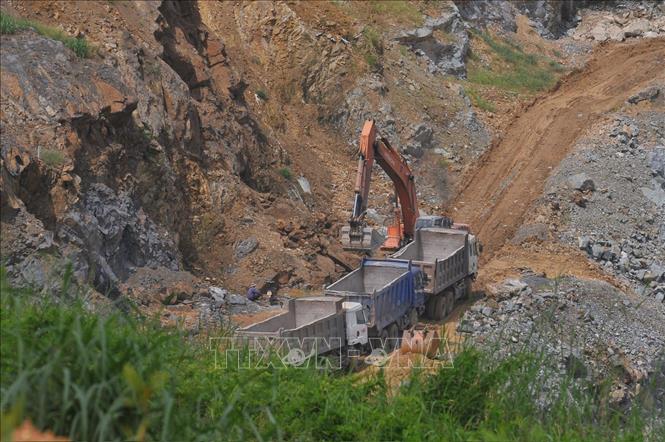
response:
[[[597,389],[545,392],[536,355],[496,361],[469,347],[396,390],[380,372],[219,368],[204,337],[96,315],[61,293],[38,298],[0,273],[3,440],[25,418],[87,441],[644,440],[644,422]]]

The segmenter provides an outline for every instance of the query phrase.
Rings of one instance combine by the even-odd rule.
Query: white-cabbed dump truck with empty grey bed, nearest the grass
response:
[[[368,342],[367,319],[362,306],[341,297],[312,296],[290,299],[287,311],[237,330],[241,340],[270,339],[299,350],[303,357],[322,355]]]

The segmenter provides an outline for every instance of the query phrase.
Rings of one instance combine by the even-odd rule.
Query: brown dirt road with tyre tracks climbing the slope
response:
[[[487,262],[522,224],[575,140],[629,96],[665,79],[665,40],[599,48],[586,68],[523,112],[466,177],[454,217],[471,224]]]

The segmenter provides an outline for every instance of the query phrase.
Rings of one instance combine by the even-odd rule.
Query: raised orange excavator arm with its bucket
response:
[[[383,137],[377,139],[374,121],[366,121],[360,135],[360,158],[354,191],[353,211],[349,225],[342,229],[342,242],[350,250],[371,250],[371,229],[366,227],[364,215],[367,210],[372,166],[376,161],[392,180],[399,206],[395,209],[395,223],[388,227],[388,238],[381,247],[397,250],[413,238],[418,217],[416,186],[409,165]]]

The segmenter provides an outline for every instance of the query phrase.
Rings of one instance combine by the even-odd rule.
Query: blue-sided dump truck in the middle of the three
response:
[[[373,347],[390,351],[400,331],[414,326],[424,311],[424,284],[424,273],[408,260],[364,258],[358,269],[324,293],[362,305]]]

